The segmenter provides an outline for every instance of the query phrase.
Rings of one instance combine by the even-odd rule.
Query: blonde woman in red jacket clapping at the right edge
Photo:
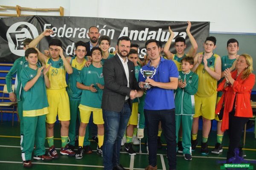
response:
[[[225,70],[225,79],[218,85],[218,91],[224,91],[216,106],[216,114],[224,104],[221,130],[228,130],[230,139],[227,160],[235,156],[234,150],[239,147],[245,123],[253,116],[250,105],[250,94],[255,84],[253,59],[248,54],[241,54],[236,62],[236,70]],[[225,81],[226,80],[226,81]]]

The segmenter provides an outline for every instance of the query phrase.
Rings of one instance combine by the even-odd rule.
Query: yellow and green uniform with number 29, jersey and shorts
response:
[[[49,114],[47,114],[46,122],[49,124],[55,123],[57,113],[60,121],[69,121],[70,104],[66,91],[66,70],[63,61],[61,58],[59,58],[58,61],[53,61],[49,58],[46,62],[46,66],[48,67],[49,64],[51,64],[51,67],[47,75],[51,82],[51,87],[47,88]]]

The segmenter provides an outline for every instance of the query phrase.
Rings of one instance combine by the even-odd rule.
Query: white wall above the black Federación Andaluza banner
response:
[[[211,32],[256,34],[256,0],[0,0],[0,5],[30,8],[62,6],[65,16],[77,17],[210,21]],[[32,13],[36,14],[22,12]],[[58,12],[37,14],[59,15]]]

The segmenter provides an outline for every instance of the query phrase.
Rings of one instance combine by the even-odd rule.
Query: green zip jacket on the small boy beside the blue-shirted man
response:
[[[177,88],[175,90],[175,114],[176,115],[193,115],[195,114],[195,98],[198,90],[198,75],[190,71],[184,74],[183,71],[179,71],[178,79],[186,79],[185,88]]]

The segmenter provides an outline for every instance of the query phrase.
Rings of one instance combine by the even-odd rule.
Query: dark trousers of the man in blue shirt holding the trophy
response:
[[[153,167],[157,165],[157,134],[161,121],[164,137],[167,142],[167,156],[169,168],[176,168],[176,125],[175,109],[172,110],[144,110],[145,122],[148,128],[148,161]]]

